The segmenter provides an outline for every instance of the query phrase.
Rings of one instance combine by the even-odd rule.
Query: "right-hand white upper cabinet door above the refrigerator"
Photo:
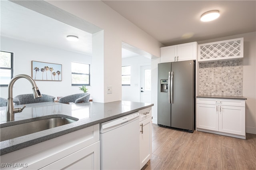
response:
[[[177,45],[176,61],[186,61],[196,59],[196,42]]]

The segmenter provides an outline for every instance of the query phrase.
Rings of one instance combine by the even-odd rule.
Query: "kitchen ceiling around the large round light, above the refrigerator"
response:
[[[256,31],[255,0],[104,0],[105,4],[165,46]],[[219,10],[220,17],[200,16]]]

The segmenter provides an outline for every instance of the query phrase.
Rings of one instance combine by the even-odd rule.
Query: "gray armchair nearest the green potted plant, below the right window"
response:
[[[84,103],[84,102],[89,102],[90,99],[90,93],[77,93],[74,95],[68,95],[61,97],[59,99],[59,103]]]

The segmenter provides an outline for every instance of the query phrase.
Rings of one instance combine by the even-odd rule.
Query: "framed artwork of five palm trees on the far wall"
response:
[[[62,81],[62,65],[32,61],[32,78],[44,81]]]

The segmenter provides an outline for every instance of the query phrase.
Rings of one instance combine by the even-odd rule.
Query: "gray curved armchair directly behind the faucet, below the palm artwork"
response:
[[[33,94],[24,94],[24,95],[17,95],[13,98],[13,103],[16,105],[24,105],[29,103],[41,103],[41,102],[48,102],[54,101],[55,97],[50,95],[42,94],[42,97],[34,99]]]

